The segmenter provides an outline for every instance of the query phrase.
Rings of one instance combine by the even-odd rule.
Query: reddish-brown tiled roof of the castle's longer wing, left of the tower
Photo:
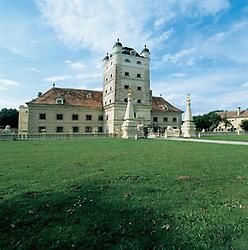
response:
[[[49,89],[27,104],[56,104],[57,98],[62,98],[64,105],[102,108],[102,91],[66,88]]]

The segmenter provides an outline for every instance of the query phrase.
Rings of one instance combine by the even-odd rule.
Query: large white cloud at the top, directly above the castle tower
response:
[[[73,47],[106,52],[113,41],[142,49],[153,48],[170,37],[171,30],[158,32],[168,20],[215,15],[229,8],[227,0],[37,0],[46,23],[58,37]],[[153,23],[154,30],[147,29]],[[156,32],[155,32],[156,31]]]

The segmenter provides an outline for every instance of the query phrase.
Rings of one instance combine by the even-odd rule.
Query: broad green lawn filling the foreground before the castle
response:
[[[248,249],[248,147],[0,142],[0,249]]]

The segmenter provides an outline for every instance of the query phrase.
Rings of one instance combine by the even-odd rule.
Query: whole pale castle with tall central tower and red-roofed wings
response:
[[[180,128],[182,111],[150,89],[150,51],[123,47],[119,39],[103,59],[103,91],[53,87],[21,105],[19,134],[120,132],[132,93],[137,124],[157,131]]]

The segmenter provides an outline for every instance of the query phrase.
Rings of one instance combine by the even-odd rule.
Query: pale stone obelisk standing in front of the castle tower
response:
[[[129,92],[124,122],[121,125],[123,139],[135,138],[135,135],[137,133],[137,122],[136,122],[136,119],[134,117],[131,96],[132,96],[132,94]]]

